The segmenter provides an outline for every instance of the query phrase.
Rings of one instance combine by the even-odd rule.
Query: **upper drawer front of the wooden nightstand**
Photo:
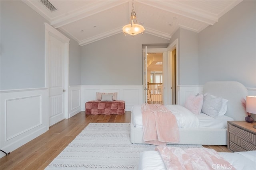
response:
[[[243,139],[244,141],[247,141],[248,143],[256,145],[256,135],[249,133],[248,131],[245,131],[233,125],[229,125],[229,133],[230,136],[235,135]]]

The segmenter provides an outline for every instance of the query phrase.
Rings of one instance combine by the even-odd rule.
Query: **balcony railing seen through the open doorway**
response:
[[[148,103],[163,104],[163,84],[148,83]]]

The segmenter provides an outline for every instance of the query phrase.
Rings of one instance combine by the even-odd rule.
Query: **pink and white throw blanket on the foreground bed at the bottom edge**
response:
[[[168,170],[235,170],[213,149],[159,146],[156,150]]]

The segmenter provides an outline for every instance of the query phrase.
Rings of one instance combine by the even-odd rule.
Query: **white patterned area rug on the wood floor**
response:
[[[136,169],[140,152],[154,150],[155,147],[130,143],[130,123],[90,123],[46,167],[46,170]]]

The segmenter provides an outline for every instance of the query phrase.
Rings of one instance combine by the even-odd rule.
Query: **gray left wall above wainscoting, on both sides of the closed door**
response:
[[[0,90],[44,87],[44,22],[47,21],[20,0],[0,3]],[[70,85],[80,85],[80,46],[72,39],[69,63]]]

